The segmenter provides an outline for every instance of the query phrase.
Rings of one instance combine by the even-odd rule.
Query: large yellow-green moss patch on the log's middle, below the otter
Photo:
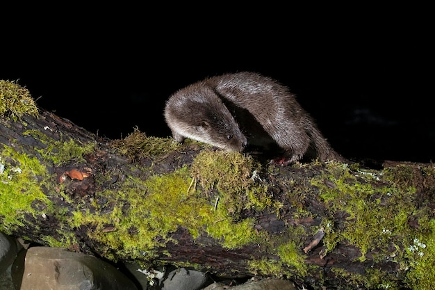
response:
[[[236,223],[224,209],[214,209],[211,202],[192,188],[188,168],[142,181],[129,177],[117,191],[96,194],[92,204],[74,211],[73,227],[85,225],[92,239],[106,245],[106,257],[154,257],[156,248],[174,242],[171,233],[183,227],[195,239],[206,232],[226,248],[238,248],[252,242],[252,220]],[[103,214],[106,207],[108,214]]]

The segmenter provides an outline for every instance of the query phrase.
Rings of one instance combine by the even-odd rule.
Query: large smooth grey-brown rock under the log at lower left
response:
[[[28,248],[20,290],[138,290],[114,266],[63,248]]]

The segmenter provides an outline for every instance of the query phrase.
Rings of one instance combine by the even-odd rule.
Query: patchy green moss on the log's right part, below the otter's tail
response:
[[[407,220],[417,211],[411,202],[415,188],[403,190],[390,182],[381,183],[380,178],[370,171],[354,175],[349,168],[335,166],[320,179],[313,179],[320,188],[320,199],[328,204],[331,219],[338,211],[347,214],[344,229],[327,228],[324,243],[329,250],[347,241],[361,250],[359,260],[364,261],[368,250],[384,248],[393,237],[411,233]],[[366,182],[374,179],[379,180],[376,187]]]

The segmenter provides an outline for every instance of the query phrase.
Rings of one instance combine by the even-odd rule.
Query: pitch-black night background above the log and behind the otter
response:
[[[433,31],[423,7],[107,5],[11,10],[0,79],[99,136],[138,127],[166,137],[173,92],[251,70],[288,86],[347,158],[435,160]]]

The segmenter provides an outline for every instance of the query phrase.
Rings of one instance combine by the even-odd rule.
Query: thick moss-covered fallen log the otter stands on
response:
[[[282,167],[136,129],[108,140],[38,111],[1,115],[1,232],[307,289],[435,284],[433,164]]]

